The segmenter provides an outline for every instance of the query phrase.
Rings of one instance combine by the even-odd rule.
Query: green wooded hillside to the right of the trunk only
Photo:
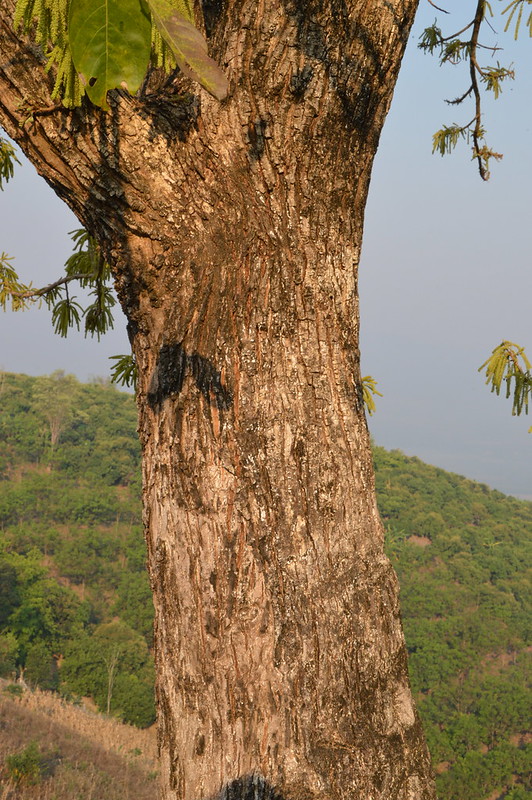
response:
[[[395,451],[375,466],[439,797],[529,798],[532,503]]]

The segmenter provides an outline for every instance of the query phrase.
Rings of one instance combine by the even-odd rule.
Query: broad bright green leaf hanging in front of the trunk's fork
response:
[[[70,0],[72,60],[92,102],[108,108],[107,92],[134,94],[150,58],[151,20],[141,0]]]

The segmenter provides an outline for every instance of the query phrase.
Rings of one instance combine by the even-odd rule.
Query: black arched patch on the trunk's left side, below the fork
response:
[[[186,375],[194,379],[196,387],[208,403],[215,405],[220,411],[231,407],[233,395],[222,383],[219,370],[199,353],[187,353],[178,342],[165,344],[159,350],[148,392],[150,407],[160,409],[166,398],[180,394]]]

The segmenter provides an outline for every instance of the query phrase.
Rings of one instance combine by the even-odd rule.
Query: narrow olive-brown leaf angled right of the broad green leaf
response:
[[[147,0],[153,21],[172,50],[181,71],[218,100],[227,94],[227,78],[207,55],[207,42],[171,0]],[[180,4],[181,5],[181,4]],[[185,0],[185,5],[188,5]],[[185,9],[183,9],[185,10]]]

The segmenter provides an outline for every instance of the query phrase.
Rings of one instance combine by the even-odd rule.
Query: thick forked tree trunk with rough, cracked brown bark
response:
[[[100,242],[139,366],[165,800],[434,798],[356,285],[417,2],[204,3],[228,99],[152,76],[108,114],[50,110],[3,3],[0,123]]]

